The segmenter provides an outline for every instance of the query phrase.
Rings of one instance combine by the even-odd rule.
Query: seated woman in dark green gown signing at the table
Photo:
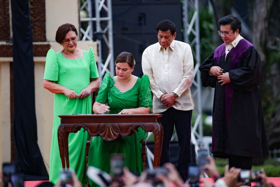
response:
[[[144,75],[139,78],[131,74],[135,65],[131,53],[120,53],[115,65],[116,76],[110,77],[110,74],[106,73],[103,78],[96,102],[93,104],[94,113],[101,114],[107,111],[108,114],[149,113],[152,105],[149,77]],[[108,103],[108,106],[102,102]],[[131,136],[121,137],[112,142],[106,142],[99,136],[95,137],[90,145],[88,164],[109,173],[111,154],[122,153],[125,156],[126,167],[141,174],[144,170],[141,140],[146,138],[147,133],[141,128]]]

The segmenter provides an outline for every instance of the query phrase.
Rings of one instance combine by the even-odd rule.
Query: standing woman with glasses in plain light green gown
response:
[[[63,49],[47,53],[44,88],[55,93],[52,143],[50,150],[50,182],[57,183],[62,168],[57,129],[60,125],[58,115],[91,114],[91,92],[99,86],[100,79],[95,63],[93,49],[82,51],[77,48],[78,32],[74,25],[58,27],[55,40]],[[85,147],[88,133],[70,133],[68,139],[69,161],[78,179],[87,183]]]

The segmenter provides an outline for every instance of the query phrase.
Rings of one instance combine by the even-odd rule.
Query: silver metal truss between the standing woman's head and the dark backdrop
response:
[[[94,4],[93,4],[94,3]],[[95,7],[95,10],[92,10]],[[83,33],[82,41],[93,40],[93,36],[98,43],[98,73],[102,81],[103,75],[110,72],[115,75],[114,71],[114,50],[113,50],[113,20],[112,20],[112,3],[111,0],[81,0],[80,12],[85,12],[85,17],[80,21],[86,29],[80,28]],[[95,13],[95,17],[93,17]],[[95,22],[95,25],[93,24]],[[102,53],[102,41],[107,47],[107,51]],[[106,61],[103,63],[103,58]]]

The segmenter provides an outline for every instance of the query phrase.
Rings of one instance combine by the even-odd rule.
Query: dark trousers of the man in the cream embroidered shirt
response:
[[[172,138],[174,125],[179,143],[178,171],[183,180],[187,180],[188,163],[192,160],[191,155],[191,118],[192,110],[177,110],[173,107],[162,112],[162,117],[158,118],[163,126],[163,144],[160,165],[170,162],[169,142]]]

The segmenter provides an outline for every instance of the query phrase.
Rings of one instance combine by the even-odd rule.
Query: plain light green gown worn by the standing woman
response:
[[[44,79],[55,81],[79,94],[90,84],[91,78],[98,78],[98,70],[93,49],[83,51],[79,59],[67,59],[62,53],[50,49],[47,53]],[[50,150],[50,182],[57,183],[62,168],[57,129],[60,125],[58,115],[91,114],[91,98],[69,99],[64,94],[55,94],[54,118],[52,127],[52,143]],[[88,140],[87,132],[78,131],[69,135],[70,168],[75,170],[79,180],[86,184],[85,146]]]

